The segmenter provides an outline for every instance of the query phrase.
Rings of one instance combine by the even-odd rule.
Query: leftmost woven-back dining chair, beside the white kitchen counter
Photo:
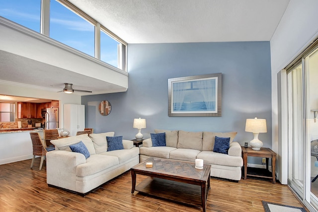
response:
[[[32,147],[33,147],[33,158],[31,162],[31,168],[33,167],[35,156],[41,156],[41,162],[39,170],[42,169],[43,160],[47,152],[55,150],[54,147],[44,147],[44,141],[42,141],[40,134],[38,132],[30,132]]]

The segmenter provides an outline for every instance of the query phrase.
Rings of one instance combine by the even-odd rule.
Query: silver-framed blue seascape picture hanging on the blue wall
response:
[[[169,116],[222,116],[222,73],[168,79]]]

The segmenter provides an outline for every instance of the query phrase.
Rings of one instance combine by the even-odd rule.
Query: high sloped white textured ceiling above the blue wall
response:
[[[269,41],[290,0],[69,0],[128,44]]]

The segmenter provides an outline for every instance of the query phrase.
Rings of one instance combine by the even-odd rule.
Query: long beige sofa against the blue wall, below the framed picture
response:
[[[233,141],[237,132],[186,132],[158,129],[155,132],[165,132],[166,146],[153,147],[151,138],[144,140],[143,147],[140,147],[140,161],[150,157],[187,161],[203,159],[204,163],[211,164],[211,176],[240,180],[243,165],[241,147],[238,142]],[[213,152],[215,136],[231,138],[228,154]]]

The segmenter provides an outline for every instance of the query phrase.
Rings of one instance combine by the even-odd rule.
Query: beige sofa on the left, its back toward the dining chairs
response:
[[[114,132],[71,136],[52,140],[55,150],[46,154],[47,183],[85,195],[139,163],[139,148],[122,140],[123,150],[107,152],[106,136]],[[72,152],[70,145],[82,143],[90,156]]]

